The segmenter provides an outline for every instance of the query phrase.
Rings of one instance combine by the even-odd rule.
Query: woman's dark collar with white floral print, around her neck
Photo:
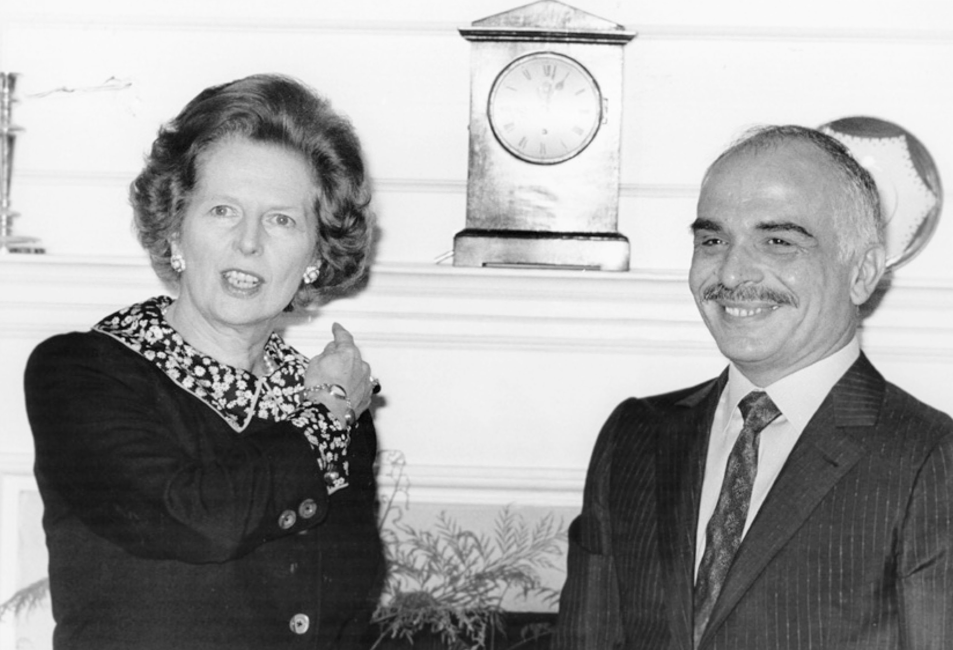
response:
[[[245,431],[254,416],[279,421],[294,413],[308,365],[305,356],[273,332],[265,344],[265,352],[277,361],[271,376],[257,377],[220,363],[193,348],[172,329],[164,315],[171,304],[168,295],[150,298],[103,318],[92,329],[152,361],[235,432]]]

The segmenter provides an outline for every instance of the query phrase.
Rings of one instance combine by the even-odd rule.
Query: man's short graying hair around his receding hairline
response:
[[[841,259],[872,244],[884,243],[884,223],[881,197],[873,176],[847,151],[838,140],[814,129],[795,125],[755,127],[744,132],[709,166],[701,181],[708,181],[718,164],[738,153],[763,152],[783,144],[803,142],[826,154],[831,171],[841,181],[843,200],[838,223],[838,244]]]

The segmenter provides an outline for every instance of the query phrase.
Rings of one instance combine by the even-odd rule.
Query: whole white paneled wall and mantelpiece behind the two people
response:
[[[0,70],[23,74],[16,228],[49,251],[0,257],[0,600],[44,570],[21,535],[25,518],[39,516],[22,405],[27,355],[48,335],[163,291],[131,234],[126,188],[158,126],[211,84],[293,74],[361,134],[382,232],[372,282],[288,335],[314,354],[331,322],[352,329],[385,385],[383,446],[404,452],[412,498],[432,504],[571,514],[598,426],[620,399],[719,372],[723,360],[685,287],[687,225],[705,167],[743,128],[881,117],[913,132],[953,184],[947,0],[782,9],[578,0],[569,4],[639,33],[624,50],[619,205],[633,271],[435,265],[465,219],[470,46],[456,29],[518,4],[0,3]],[[884,375],[946,411],[951,249],[944,214],[863,332]],[[0,646],[43,634],[27,629],[0,624]]]

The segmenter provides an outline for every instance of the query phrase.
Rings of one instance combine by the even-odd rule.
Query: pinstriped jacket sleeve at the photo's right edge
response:
[[[897,572],[902,647],[953,647],[953,432],[920,468],[902,525]]]

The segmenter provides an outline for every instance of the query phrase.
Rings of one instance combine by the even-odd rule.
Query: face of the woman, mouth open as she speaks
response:
[[[215,330],[263,327],[316,264],[317,188],[304,157],[232,137],[198,158],[198,178],[172,242],[185,271],[177,315]]]

